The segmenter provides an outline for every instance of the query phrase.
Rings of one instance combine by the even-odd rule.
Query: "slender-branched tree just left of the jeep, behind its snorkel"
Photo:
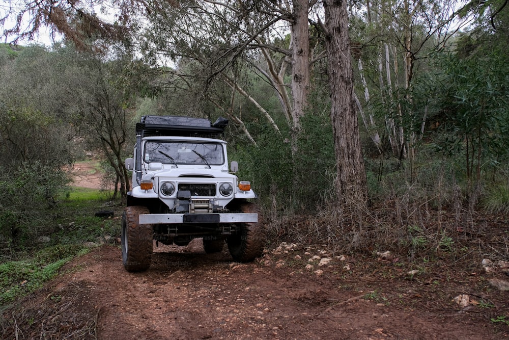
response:
[[[125,168],[126,144],[132,145],[134,136],[132,105],[136,89],[123,83],[115,86],[122,74],[125,61],[105,61],[95,54],[81,53],[68,47],[68,57],[73,59],[76,80],[76,102],[80,104],[78,125],[81,136],[92,149],[98,150],[116,175],[112,198],[120,194],[124,201],[130,190],[129,176]],[[128,143],[130,142],[130,143]]]

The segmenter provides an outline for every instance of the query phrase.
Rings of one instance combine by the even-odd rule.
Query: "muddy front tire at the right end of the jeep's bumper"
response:
[[[257,223],[242,223],[240,230],[235,235],[228,237],[228,249],[233,259],[237,262],[250,262],[262,256],[265,246],[266,234],[263,217],[260,208],[251,202],[239,204],[239,211],[242,213],[257,213]]]

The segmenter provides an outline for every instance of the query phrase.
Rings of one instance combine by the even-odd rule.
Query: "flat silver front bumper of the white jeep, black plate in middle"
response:
[[[139,224],[256,223],[258,214],[144,214]]]

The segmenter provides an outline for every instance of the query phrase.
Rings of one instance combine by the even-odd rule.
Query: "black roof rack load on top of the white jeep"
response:
[[[136,135],[218,138],[228,125],[228,119],[219,117],[213,124],[207,118],[181,116],[143,116],[136,123]]]

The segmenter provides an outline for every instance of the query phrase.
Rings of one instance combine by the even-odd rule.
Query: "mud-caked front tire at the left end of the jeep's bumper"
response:
[[[152,225],[138,223],[143,214],[150,214],[145,206],[128,206],[122,216],[122,263],[128,272],[147,270],[152,260]]]

